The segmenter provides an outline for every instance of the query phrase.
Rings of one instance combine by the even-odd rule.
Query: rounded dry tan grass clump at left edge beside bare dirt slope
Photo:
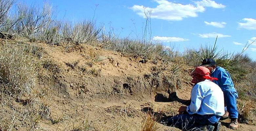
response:
[[[36,82],[38,65],[24,47],[8,47],[8,45],[1,47],[1,91],[11,96],[30,93]]]

